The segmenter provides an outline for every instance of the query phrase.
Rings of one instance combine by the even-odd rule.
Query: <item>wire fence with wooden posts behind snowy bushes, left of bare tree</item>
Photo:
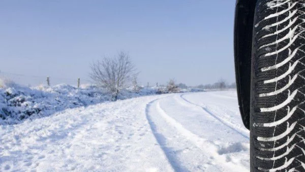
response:
[[[26,85],[28,87],[38,85],[56,85],[56,84],[69,84],[78,87],[80,84],[92,83],[88,78],[65,78],[65,77],[53,77],[53,76],[41,76],[41,75],[25,75],[20,73],[10,73],[0,71],[0,78],[5,80],[12,80],[15,83]]]

